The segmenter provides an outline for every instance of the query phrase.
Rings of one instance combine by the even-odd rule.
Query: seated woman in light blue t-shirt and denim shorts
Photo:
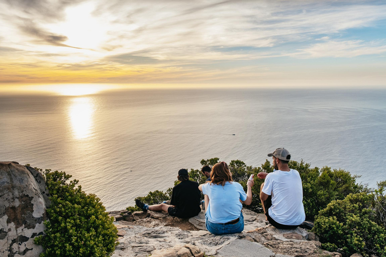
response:
[[[201,184],[205,195],[205,226],[215,235],[239,233],[244,230],[242,203],[252,202],[253,181],[247,182],[247,193],[232,180],[232,173],[225,162],[217,163],[211,172],[211,181]]]

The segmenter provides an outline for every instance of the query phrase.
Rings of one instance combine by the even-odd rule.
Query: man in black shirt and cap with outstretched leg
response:
[[[171,205],[161,203],[149,206],[139,199],[135,200],[135,204],[143,211],[165,211],[171,216],[180,218],[197,216],[201,211],[199,184],[189,180],[186,169],[180,169],[177,178],[181,182],[173,187],[170,200]]]

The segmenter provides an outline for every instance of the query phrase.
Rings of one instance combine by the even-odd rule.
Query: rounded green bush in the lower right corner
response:
[[[356,252],[386,256],[386,229],[376,222],[373,199],[374,195],[366,192],[349,194],[321,210],[313,231],[322,247],[345,256]]]

